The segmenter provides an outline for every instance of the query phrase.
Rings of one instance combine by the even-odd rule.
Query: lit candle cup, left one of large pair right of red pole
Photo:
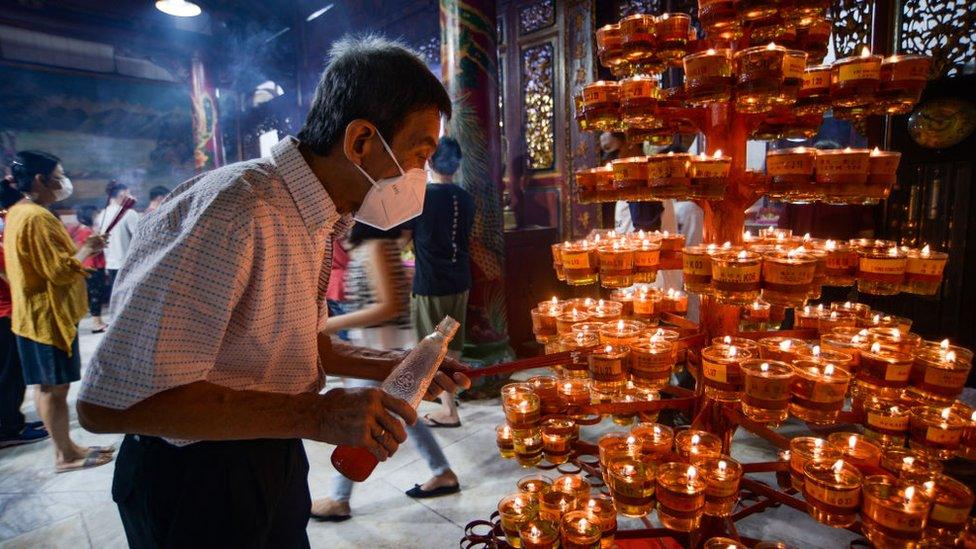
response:
[[[744,360],[742,413],[767,426],[779,426],[789,417],[793,366],[777,360]]]

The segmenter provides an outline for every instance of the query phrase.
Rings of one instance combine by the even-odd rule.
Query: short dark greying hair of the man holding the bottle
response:
[[[451,97],[416,53],[374,35],[345,37],[332,46],[298,139],[324,156],[361,118],[391,143],[407,115],[430,107],[451,116]]]

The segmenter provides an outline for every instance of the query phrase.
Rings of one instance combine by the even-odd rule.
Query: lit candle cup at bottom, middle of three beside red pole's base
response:
[[[670,462],[658,467],[657,516],[661,524],[679,532],[697,529],[705,511],[706,488],[694,465]]]

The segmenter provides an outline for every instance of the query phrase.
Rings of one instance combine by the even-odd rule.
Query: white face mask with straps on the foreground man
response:
[[[378,131],[376,135],[379,136],[383,148],[400,170],[400,175],[376,181],[366,173],[366,170],[353,163],[356,169],[373,184],[353,218],[370,227],[387,231],[423,213],[427,174],[420,168],[412,168],[404,172],[383,136]]]

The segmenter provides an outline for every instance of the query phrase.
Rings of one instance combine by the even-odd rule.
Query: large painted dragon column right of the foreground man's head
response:
[[[454,100],[448,133],[461,144],[460,185],[475,203],[465,358],[514,357],[505,307],[495,0],[440,0],[441,78]]]

